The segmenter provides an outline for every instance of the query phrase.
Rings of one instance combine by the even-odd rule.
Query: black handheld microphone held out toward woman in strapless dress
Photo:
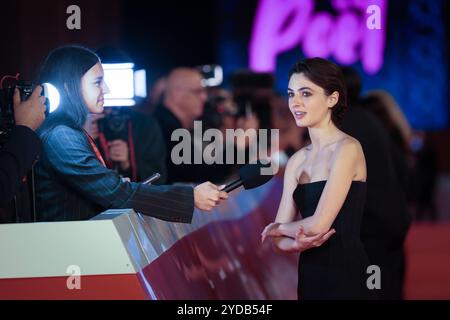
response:
[[[261,170],[264,168],[270,168],[270,162],[263,164],[257,162],[255,164],[247,164],[239,169],[239,179],[234,180],[222,189],[222,191],[230,192],[240,186],[244,186],[246,190],[257,188],[262,186],[270,179],[272,179],[273,174],[263,175]]]

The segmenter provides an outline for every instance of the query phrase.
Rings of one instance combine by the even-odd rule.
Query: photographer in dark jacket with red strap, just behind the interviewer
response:
[[[158,123],[150,115],[126,108],[105,108],[89,114],[84,129],[94,139],[106,166],[132,182],[145,181],[155,173],[167,179],[166,146]]]

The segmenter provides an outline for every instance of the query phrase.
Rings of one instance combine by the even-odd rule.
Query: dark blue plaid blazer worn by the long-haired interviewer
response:
[[[58,125],[40,135],[43,155],[35,170],[38,221],[85,220],[114,208],[133,208],[167,221],[192,221],[192,187],[123,181],[100,163],[81,130]]]

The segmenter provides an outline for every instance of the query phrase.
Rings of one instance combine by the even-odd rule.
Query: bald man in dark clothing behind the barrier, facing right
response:
[[[171,141],[172,133],[181,128],[191,130],[194,127],[194,121],[203,114],[208,97],[206,88],[202,85],[202,79],[201,74],[195,69],[174,69],[165,83],[163,103],[156,107],[154,117],[162,129],[167,147],[167,183],[201,182],[205,178],[219,182],[227,172],[224,165],[175,165],[171,159],[172,149],[179,143]],[[191,163],[193,163],[194,152],[202,151],[191,147]]]

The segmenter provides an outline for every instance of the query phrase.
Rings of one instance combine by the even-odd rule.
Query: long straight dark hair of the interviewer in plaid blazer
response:
[[[39,83],[53,84],[61,95],[61,103],[46,122],[83,127],[88,110],[81,95],[81,78],[99,61],[93,51],[81,46],[64,46],[50,52],[41,68]]]

